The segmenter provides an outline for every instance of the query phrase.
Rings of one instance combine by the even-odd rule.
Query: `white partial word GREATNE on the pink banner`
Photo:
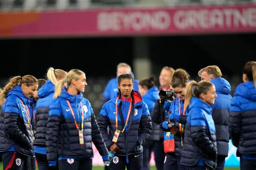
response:
[[[174,26],[178,29],[208,29],[224,27],[255,27],[256,8],[242,9],[202,9],[179,10],[173,16]]]

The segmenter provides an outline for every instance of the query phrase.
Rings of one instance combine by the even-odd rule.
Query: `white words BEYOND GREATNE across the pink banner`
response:
[[[173,15],[173,16],[172,16]],[[173,26],[171,27],[171,23]],[[256,27],[256,8],[207,8],[170,11],[100,12],[100,31],[154,31]]]

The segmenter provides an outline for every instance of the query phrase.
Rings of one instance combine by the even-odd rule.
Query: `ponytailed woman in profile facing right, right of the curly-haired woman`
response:
[[[188,117],[180,158],[180,164],[187,169],[216,168],[217,143],[211,107],[216,97],[215,86],[211,82],[192,81],[187,87],[185,109]]]

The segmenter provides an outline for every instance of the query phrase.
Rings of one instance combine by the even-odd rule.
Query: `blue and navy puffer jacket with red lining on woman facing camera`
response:
[[[129,121],[123,133],[122,130],[128,116],[131,98],[122,100],[122,105],[120,104],[121,99],[118,99],[117,102],[118,130],[121,130],[121,132],[116,143],[120,149],[116,152],[116,155],[120,156],[141,153],[143,151],[142,144],[148,139],[152,131],[152,122],[148,106],[143,102],[142,96],[137,91],[133,90],[132,95],[134,97],[134,106],[132,106]],[[98,125],[107,147],[113,144],[112,139],[116,130],[117,96],[118,92],[110,101],[102,106],[99,113]],[[109,134],[107,130],[108,126]]]

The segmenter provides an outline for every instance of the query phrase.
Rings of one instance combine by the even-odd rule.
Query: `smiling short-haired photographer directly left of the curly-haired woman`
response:
[[[171,82],[174,71],[175,70],[172,67],[165,66],[162,68],[162,71],[159,76],[159,82],[160,82],[159,90],[161,93],[165,91],[166,93],[168,93],[168,91],[171,90],[172,87],[170,85],[170,82]],[[163,122],[163,120],[165,119],[165,116],[167,116],[167,112],[169,111],[171,100],[172,100],[172,97],[171,98],[167,97],[168,99],[171,99],[171,100],[168,100],[166,96],[161,99],[161,96],[162,95],[160,95],[160,99],[158,99],[155,102],[154,108],[151,111],[151,119],[153,122],[157,124],[160,124],[161,122]],[[163,132],[162,129],[160,130],[161,130],[160,141],[158,141],[158,144],[156,144],[154,148],[154,154],[156,154],[157,152],[160,158],[157,157],[155,161],[163,162],[163,168],[159,168],[159,170],[177,170],[177,159],[176,159],[176,154],[174,152],[174,135],[169,134],[168,132]],[[171,147],[167,146],[168,144],[170,144]],[[166,155],[165,159],[162,159],[164,158],[164,156],[162,155]]]

